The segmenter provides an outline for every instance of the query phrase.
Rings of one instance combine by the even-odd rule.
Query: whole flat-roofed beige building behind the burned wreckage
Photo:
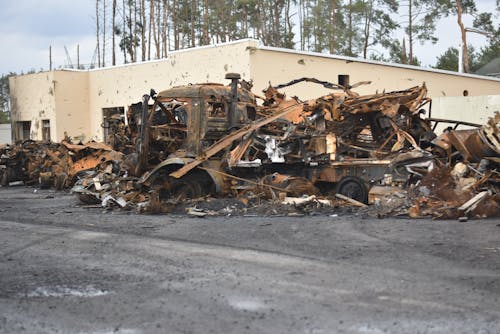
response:
[[[371,81],[370,85],[356,89],[361,94],[403,90],[425,82],[432,98],[500,95],[498,78],[265,47],[246,39],[174,51],[155,61],[11,77],[13,135],[16,139],[60,141],[67,133],[82,141],[100,141],[105,137],[106,116],[124,113],[128,105],[138,102],[151,88],[161,91],[189,83],[227,82],[227,72],[252,80],[257,94],[269,82],[277,85],[314,77],[334,83]],[[284,91],[301,99],[329,92],[311,83]],[[440,116],[458,118],[460,113],[441,110]]]

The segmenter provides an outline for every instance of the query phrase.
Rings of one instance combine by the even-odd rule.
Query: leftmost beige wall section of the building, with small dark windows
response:
[[[12,131],[16,131],[16,122],[31,121],[31,139],[41,140],[42,120],[50,119],[55,124],[54,75],[55,72],[42,72],[9,78]],[[56,140],[55,133],[51,135]]]

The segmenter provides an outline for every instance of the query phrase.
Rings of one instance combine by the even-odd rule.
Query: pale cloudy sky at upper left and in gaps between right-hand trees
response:
[[[495,0],[476,0],[476,4],[480,12],[495,9]],[[80,45],[80,63],[89,64],[95,50],[94,10],[94,0],[0,0],[0,74],[47,70],[49,45],[54,68],[67,63],[64,46],[76,63]],[[472,26],[471,17],[464,21]],[[437,28],[437,44],[415,45],[416,56],[425,66],[434,65],[438,55],[460,41],[455,17],[441,20]],[[395,37],[401,39],[402,33]],[[486,38],[469,33],[468,42],[479,48]]]

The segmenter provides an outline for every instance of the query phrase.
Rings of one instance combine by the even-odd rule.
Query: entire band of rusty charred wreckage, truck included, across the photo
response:
[[[108,119],[108,144],[66,138],[1,147],[1,183],[196,216],[345,206],[379,217],[500,216],[500,114],[484,125],[425,118],[425,84],[360,96],[353,89],[369,82],[302,78],[258,96],[238,74],[226,78],[227,86],[152,90],[129,107],[126,123]],[[332,93],[302,101],[279,91],[303,81]],[[440,135],[438,124],[446,124]]]

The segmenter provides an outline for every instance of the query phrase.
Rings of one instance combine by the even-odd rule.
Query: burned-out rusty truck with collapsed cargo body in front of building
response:
[[[367,202],[372,186],[403,185],[431,166],[425,85],[359,96],[351,86],[302,78],[258,96],[238,74],[226,78],[228,86],[152,91],[130,108],[130,173],[140,186],[162,198],[271,189]],[[278,91],[302,81],[333,92],[301,101]]]

